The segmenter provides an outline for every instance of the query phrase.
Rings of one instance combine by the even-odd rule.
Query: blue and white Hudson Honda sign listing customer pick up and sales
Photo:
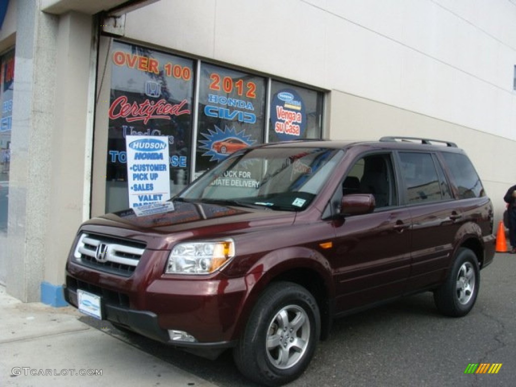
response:
[[[131,208],[170,199],[168,136],[125,136]]]

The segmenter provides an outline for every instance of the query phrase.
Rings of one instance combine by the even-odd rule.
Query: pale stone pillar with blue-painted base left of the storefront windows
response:
[[[45,301],[42,284],[59,293],[74,233],[89,206],[92,18],[47,14],[37,4],[18,1],[3,257],[7,292],[24,302]]]

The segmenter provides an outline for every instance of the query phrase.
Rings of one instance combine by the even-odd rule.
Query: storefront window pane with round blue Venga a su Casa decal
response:
[[[272,81],[268,142],[320,138],[322,93]]]

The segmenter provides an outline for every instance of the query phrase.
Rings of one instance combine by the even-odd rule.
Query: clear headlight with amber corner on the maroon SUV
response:
[[[209,274],[235,256],[233,239],[180,243],[168,257],[167,274]]]

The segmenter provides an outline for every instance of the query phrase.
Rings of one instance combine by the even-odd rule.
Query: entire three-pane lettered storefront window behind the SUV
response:
[[[99,72],[96,120],[102,143],[95,142],[106,174],[95,156],[101,174],[93,184],[106,184],[105,197],[93,200],[95,212],[168,200],[240,149],[321,137],[320,91],[136,44],[103,43],[107,71]]]

